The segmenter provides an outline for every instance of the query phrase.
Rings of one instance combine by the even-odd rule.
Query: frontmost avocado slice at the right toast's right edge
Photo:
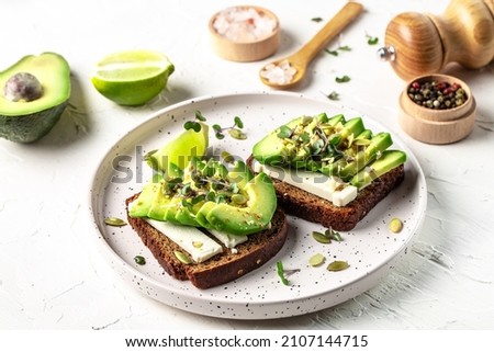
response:
[[[402,150],[385,150],[381,157],[373,161],[369,167],[363,168],[359,173],[351,178],[350,183],[356,188],[363,189],[372,183],[373,180],[390,172],[406,161],[406,154]]]

